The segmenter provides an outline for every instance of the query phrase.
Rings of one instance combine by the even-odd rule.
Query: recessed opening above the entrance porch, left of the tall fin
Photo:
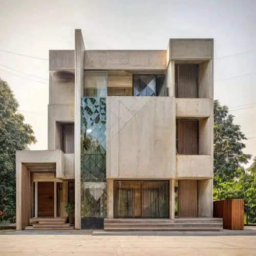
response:
[[[56,149],[74,154],[74,123],[56,122]]]

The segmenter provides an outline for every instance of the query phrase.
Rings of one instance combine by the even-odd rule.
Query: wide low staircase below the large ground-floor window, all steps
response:
[[[104,231],[220,231],[222,218],[105,219]]]

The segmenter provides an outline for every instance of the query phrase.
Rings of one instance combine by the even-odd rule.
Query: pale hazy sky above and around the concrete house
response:
[[[50,49],[74,49],[75,29],[88,50],[166,49],[168,38],[214,38],[215,99],[241,106],[256,103],[255,10],[256,0],[0,0],[0,50],[48,59]],[[38,141],[31,150],[47,150],[48,68],[47,60],[0,51],[0,77]],[[230,113],[250,138],[244,152],[256,156],[256,104],[241,108]]]

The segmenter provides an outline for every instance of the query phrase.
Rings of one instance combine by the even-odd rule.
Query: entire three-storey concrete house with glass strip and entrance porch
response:
[[[48,150],[16,152],[17,229],[218,230],[213,39],[49,56]],[[74,204],[74,217],[66,203]]]

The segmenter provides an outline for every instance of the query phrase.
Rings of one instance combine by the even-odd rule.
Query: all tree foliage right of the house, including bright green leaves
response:
[[[233,123],[227,106],[214,102],[214,200],[242,198],[249,221],[256,218],[256,158],[245,170],[251,155],[244,154],[245,135]]]

